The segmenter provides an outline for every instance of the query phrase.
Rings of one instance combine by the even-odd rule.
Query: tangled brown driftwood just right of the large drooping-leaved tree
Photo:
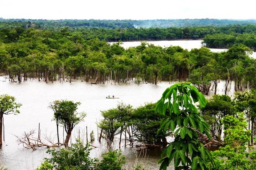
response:
[[[224,142],[222,140],[214,139],[214,136],[212,136],[211,140],[209,140],[208,136],[205,134],[202,134],[200,131],[197,131],[198,133],[198,140],[204,144],[204,147],[210,148],[212,146],[223,146]]]

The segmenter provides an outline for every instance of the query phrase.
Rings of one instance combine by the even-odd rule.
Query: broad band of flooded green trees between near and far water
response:
[[[79,78],[91,83],[134,80],[156,84],[189,78],[204,94],[217,87],[220,79],[226,80],[226,93],[231,81],[235,89],[256,87],[256,60],[248,57],[250,49],[241,44],[223,53],[206,47],[187,51],[146,43],[124,49],[120,43],[87,40],[83,32],[67,28],[53,32],[17,27],[0,37],[5,38],[0,42],[0,69],[10,81],[71,82]]]

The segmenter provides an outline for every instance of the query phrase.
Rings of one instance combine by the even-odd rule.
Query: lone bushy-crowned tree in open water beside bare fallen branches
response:
[[[68,147],[68,142],[71,136],[73,128],[80,123],[86,116],[86,113],[77,113],[77,107],[80,102],[74,103],[73,101],[55,101],[54,105],[50,107],[54,108],[54,120],[58,119],[58,122],[64,126],[67,133],[64,146]],[[58,124],[57,124],[58,125]]]

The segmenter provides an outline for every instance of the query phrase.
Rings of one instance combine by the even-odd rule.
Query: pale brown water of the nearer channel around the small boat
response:
[[[38,148],[36,151],[25,149],[18,146],[16,137],[24,131],[37,129],[40,123],[43,136],[51,137],[56,141],[55,122],[52,121],[53,112],[48,109],[49,103],[58,99],[80,101],[79,111],[85,111],[87,116],[73,131],[72,141],[78,137],[78,128],[80,129],[81,138],[88,126],[88,134],[94,130],[95,138],[97,138],[96,121],[101,119],[101,110],[116,107],[119,102],[130,104],[134,107],[144,105],[144,103],[156,102],[163,91],[171,84],[168,82],[154,84],[118,84],[118,85],[90,85],[88,83],[74,81],[72,83],[44,83],[37,80],[29,80],[23,83],[9,83],[4,81],[4,77],[0,77],[0,94],[9,94],[16,97],[17,102],[22,103],[20,114],[7,115],[4,117],[5,139],[3,148],[0,150],[0,162],[13,170],[32,170],[36,168],[41,160],[46,156],[45,148]],[[224,82],[218,85],[218,94],[223,94]],[[212,93],[211,93],[212,94]],[[107,95],[115,95],[120,99],[106,99]],[[60,130],[62,133],[62,130]],[[85,141],[85,140],[84,140]],[[7,145],[7,146],[6,146]],[[93,145],[98,146],[91,151],[91,156],[99,157],[104,148],[103,144],[94,142]],[[114,144],[114,148],[118,148],[118,143]],[[150,169],[158,169],[156,164],[160,158],[160,148],[155,148],[145,153],[135,151],[133,148],[123,148],[124,154],[127,156],[128,167],[136,162],[144,162],[146,167]],[[140,156],[138,156],[140,155]]]

